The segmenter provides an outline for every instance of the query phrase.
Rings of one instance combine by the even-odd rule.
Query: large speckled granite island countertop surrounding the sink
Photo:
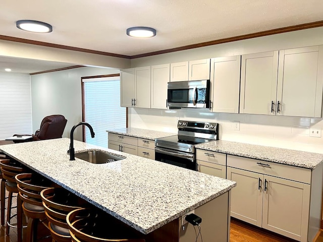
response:
[[[236,186],[223,179],[74,141],[77,151],[104,150],[123,160],[69,160],[70,139],[0,146],[0,150],[96,207],[147,234]]]

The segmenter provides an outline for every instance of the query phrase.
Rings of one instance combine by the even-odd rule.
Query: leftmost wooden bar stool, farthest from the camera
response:
[[[11,221],[10,221],[14,216],[19,214],[19,209],[20,209],[20,206],[18,204],[19,199],[17,199],[17,214],[15,214],[14,216],[11,216],[13,194],[14,193],[18,194],[15,176],[19,173],[23,173],[23,172],[28,171],[28,168],[16,160],[5,159],[5,160],[0,160],[0,169],[2,172],[2,176],[3,176],[3,179],[1,181],[1,210],[2,210],[1,212],[2,213],[5,210],[5,209],[3,209],[5,207],[4,201],[5,201],[5,193],[6,193],[6,191],[3,187],[4,183],[5,183],[5,188],[9,193],[8,205],[7,205],[7,229],[6,229],[6,235],[8,235],[10,227],[17,228],[17,226],[18,226],[18,225],[16,226],[16,225],[11,224]],[[2,216],[3,216],[3,214],[2,214]],[[17,220],[18,220],[18,218],[17,218]]]

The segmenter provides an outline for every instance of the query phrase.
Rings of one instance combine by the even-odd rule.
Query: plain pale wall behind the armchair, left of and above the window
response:
[[[68,120],[63,137],[70,137],[71,128],[82,121],[81,77],[120,73],[118,69],[82,67],[31,76],[33,134],[41,120],[50,114],[63,114]],[[74,132],[82,141],[82,128]]]

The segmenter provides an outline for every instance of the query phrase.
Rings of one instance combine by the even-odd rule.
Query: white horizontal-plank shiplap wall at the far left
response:
[[[0,72],[0,140],[32,134],[29,74]]]

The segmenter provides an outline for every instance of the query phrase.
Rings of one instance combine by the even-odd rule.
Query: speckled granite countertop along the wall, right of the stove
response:
[[[195,148],[299,166],[308,169],[316,168],[316,166],[323,161],[323,154],[224,140],[198,144]]]

